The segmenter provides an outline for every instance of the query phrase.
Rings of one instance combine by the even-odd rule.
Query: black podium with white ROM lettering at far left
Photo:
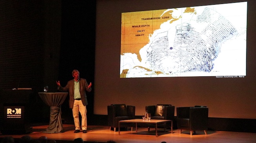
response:
[[[26,107],[32,90],[0,90],[0,104],[3,106],[2,134],[27,134],[29,127]]]

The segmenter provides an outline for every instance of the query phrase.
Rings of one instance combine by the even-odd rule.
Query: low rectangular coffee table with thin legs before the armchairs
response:
[[[136,132],[138,131],[137,123],[146,123],[146,124],[156,124],[156,137],[157,135],[157,124],[166,124],[167,122],[171,122],[171,133],[172,133],[172,120],[143,120],[143,119],[131,119],[131,120],[122,120],[118,122],[118,134],[120,135],[120,123],[136,123]]]

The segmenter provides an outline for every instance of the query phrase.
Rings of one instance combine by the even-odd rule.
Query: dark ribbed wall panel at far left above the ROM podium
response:
[[[43,85],[44,13],[41,0],[0,0],[0,88]]]

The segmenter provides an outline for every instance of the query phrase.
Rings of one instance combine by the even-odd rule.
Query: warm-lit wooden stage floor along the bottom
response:
[[[147,128],[138,127],[138,132],[128,129],[127,131],[110,131],[107,126],[89,125],[87,133],[74,133],[74,125],[64,124],[64,132],[56,134],[43,133],[48,125],[34,126],[33,132],[27,134],[32,139],[38,139],[40,136],[46,136],[49,140],[73,141],[76,138],[82,138],[86,142],[100,142],[106,143],[109,140],[116,141],[116,143],[256,143],[256,133],[250,132],[227,132],[227,131],[207,131],[207,135],[203,131],[197,131],[196,134],[190,135],[189,131],[182,131],[179,134],[178,129],[158,129],[158,137],[155,136],[155,130],[147,131]],[[0,138],[5,136],[13,136],[13,138],[21,138],[25,134],[19,135],[0,135]]]

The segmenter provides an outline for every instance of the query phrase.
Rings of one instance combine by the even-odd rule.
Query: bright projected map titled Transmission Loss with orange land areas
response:
[[[246,75],[247,2],[122,13],[120,78]]]

